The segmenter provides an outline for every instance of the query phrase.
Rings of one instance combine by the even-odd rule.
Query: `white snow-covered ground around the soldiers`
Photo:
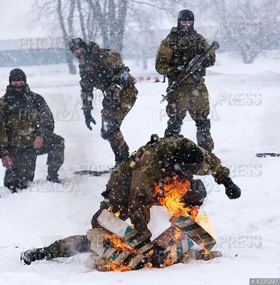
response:
[[[92,214],[99,208],[100,193],[109,175],[76,177],[74,170],[101,170],[114,165],[109,143],[101,139],[101,93],[96,92],[90,131],[84,124],[79,102],[79,76],[66,74],[65,66],[23,68],[32,90],[44,95],[56,118],[55,132],[66,140],[65,163],[60,177],[64,185],[47,183],[46,155],[38,157],[35,181],[29,189],[11,195],[0,187],[0,284],[249,284],[251,277],[280,277],[279,158],[257,158],[256,152],[280,152],[279,88],[277,58],[258,58],[244,66],[230,55],[219,54],[209,68],[206,85],[211,98],[211,133],[215,154],[230,167],[242,195],[229,200],[224,187],[204,177],[208,198],[204,212],[211,218],[224,256],[212,261],[176,264],[166,269],[101,273],[89,270],[89,255],[37,261],[24,266],[20,253],[43,247],[73,234],[85,234]],[[156,76],[153,61],[141,71],[129,62],[131,73]],[[4,93],[9,70],[0,70]],[[31,77],[31,75],[33,75]],[[122,125],[130,150],[145,144],[151,134],[164,134],[165,105],[160,104],[166,83],[137,83],[139,98]],[[196,141],[195,126],[188,117],[182,133]],[[1,177],[4,168],[1,168]],[[162,207],[151,211],[150,229],[156,235],[169,227]],[[157,280],[157,281],[156,281]]]

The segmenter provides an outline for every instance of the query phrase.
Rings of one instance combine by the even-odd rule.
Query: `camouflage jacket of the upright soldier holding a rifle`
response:
[[[191,59],[203,53],[209,46],[206,39],[196,31],[189,36],[183,36],[179,33],[178,28],[174,27],[161,42],[156,53],[156,71],[169,79],[171,78],[170,84],[176,80],[181,68],[188,66]],[[215,59],[215,53],[210,53],[206,67],[213,66]],[[205,76],[205,68],[201,69],[199,76]]]

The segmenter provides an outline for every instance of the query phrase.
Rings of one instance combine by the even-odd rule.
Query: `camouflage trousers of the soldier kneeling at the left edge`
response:
[[[48,154],[48,173],[59,171],[64,162],[64,138],[52,133],[41,148],[11,151],[9,155],[14,165],[5,172],[4,186],[9,189],[26,188],[28,182],[34,180],[37,156],[45,154]]]

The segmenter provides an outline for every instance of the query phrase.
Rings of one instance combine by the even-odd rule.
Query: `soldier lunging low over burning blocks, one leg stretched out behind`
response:
[[[186,207],[200,207],[206,197],[206,189],[201,180],[194,180],[193,175],[212,175],[216,183],[224,185],[229,199],[239,198],[241,190],[229,177],[229,169],[221,166],[216,155],[207,152],[182,135],[164,139],[152,135],[150,142],[134,152],[111,174],[106,191],[102,193],[104,201],[92,217],[91,225],[100,227],[97,218],[103,209],[113,207],[120,211],[119,218],[131,219],[134,229],[150,238],[148,229],[149,209],[159,203],[155,195],[155,186],[164,183],[176,175],[178,180],[189,180],[191,188],[182,197]],[[71,257],[81,252],[90,252],[90,241],[84,236],[67,237],[49,247],[32,249],[24,252],[21,259],[26,264],[39,259]]]

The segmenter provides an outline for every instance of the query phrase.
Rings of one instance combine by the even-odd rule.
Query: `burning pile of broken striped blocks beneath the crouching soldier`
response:
[[[87,233],[91,250],[96,253],[96,268],[99,271],[129,271],[156,267],[152,256],[154,248],[158,246],[165,249],[164,262],[160,267],[176,263],[194,246],[194,242],[199,244],[204,252],[205,249],[209,252],[209,244],[216,241],[193,219],[187,218],[189,217],[175,219],[169,229],[150,242],[131,225],[105,209],[98,217],[102,229],[90,229]],[[189,227],[191,223],[196,227]],[[199,238],[194,238],[195,232]],[[201,239],[204,242],[201,242]]]

